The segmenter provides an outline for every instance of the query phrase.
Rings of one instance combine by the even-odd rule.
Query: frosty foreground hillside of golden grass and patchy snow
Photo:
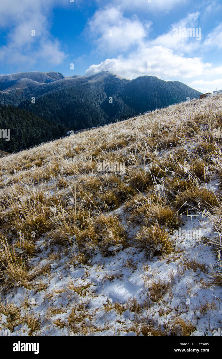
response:
[[[220,126],[218,95],[1,158],[0,328],[218,330]]]

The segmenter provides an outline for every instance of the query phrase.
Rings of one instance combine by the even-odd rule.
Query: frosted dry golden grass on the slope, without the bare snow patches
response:
[[[208,188],[209,181],[222,178],[222,141],[212,136],[213,129],[222,126],[221,98],[170,106],[0,158],[3,292],[8,294],[9,289],[18,286],[47,290],[46,281],[39,278],[33,283],[33,279],[49,279],[52,261],[63,254],[68,255],[65,265],[74,268],[90,266],[98,253],[110,256],[108,261],[112,261],[111,256],[121,250],[132,250],[137,255],[137,248],[144,251],[146,262],[153,256],[160,256],[161,261],[164,256],[176,260],[171,231],[179,227],[188,211],[204,211],[212,220],[216,234],[209,246],[218,261],[212,283],[222,285],[221,187]],[[126,173],[100,172],[98,164],[103,160],[125,163]],[[61,257],[53,257],[51,252],[47,264],[33,269],[32,257],[42,250],[39,241]],[[195,260],[182,261],[182,265],[184,270],[208,271],[204,263]],[[136,268],[129,260],[126,266]],[[87,276],[86,268],[84,271]],[[106,279],[112,281],[118,275],[116,271]],[[71,289],[84,297],[88,288],[73,284]],[[110,307],[122,316],[129,309],[137,317],[170,295],[171,283],[152,281],[147,303],[132,298],[127,305],[116,302]],[[47,296],[52,298],[51,293]],[[14,318],[13,328],[21,318],[13,304],[7,305],[8,309],[1,307],[0,311],[11,312],[5,315]],[[48,315],[53,317],[56,310]],[[169,310],[162,309],[163,313]],[[67,318],[72,333],[98,331],[86,318],[89,316],[84,305],[76,304]],[[27,314],[26,321],[31,335],[41,328],[31,314]],[[67,321],[54,318],[54,324],[63,328]],[[165,334],[146,321],[137,324],[132,330],[138,335]],[[173,322],[173,334],[190,335],[194,330],[192,323],[178,318]]]

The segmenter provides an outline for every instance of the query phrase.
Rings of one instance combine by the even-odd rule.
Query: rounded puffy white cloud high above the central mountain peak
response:
[[[107,7],[95,12],[88,22],[87,33],[101,51],[125,51],[143,42],[151,22],[143,24],[135,15],[123,16],[117,8]]]

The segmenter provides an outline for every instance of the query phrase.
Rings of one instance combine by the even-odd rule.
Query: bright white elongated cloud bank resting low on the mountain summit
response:
[[[150,69],[151,66],[151,69]],[[199,57],[177,55],[166,47],[154,46],[138,48],[128,56],[107,59],[98,65],[91,65],[85,75],[93,75],[100,71],[110,71],[129,79],[143,75],[157,76],[162,79],[187,78],[202,75],[211,67]]]

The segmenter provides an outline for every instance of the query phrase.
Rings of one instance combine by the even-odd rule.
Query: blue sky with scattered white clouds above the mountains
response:
[[[221,15],[221,0],[1,0],[0,74],[108,70],[211,92],[222,89]]]

